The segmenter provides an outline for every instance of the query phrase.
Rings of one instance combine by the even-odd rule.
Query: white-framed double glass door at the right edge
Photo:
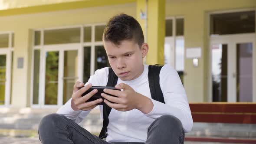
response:
[[[256,52],[254,34],[212,37],[210,41],[210,100],[253,102]]]

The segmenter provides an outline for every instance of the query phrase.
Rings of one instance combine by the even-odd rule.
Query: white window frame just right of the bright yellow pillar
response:
[[[172,36],[165,36],[164,38],[164,44],[170,44],[171,49],[169,53],[170,59],[167,62],[167,64],[170,64],[174,69],[176,69],[176,40],[177,39],[183,39],[183,36],[176,36],[176,20],[177,19],[183,19],[184,16],[172,16],[172,17],[166,17],[165,20],[172,20]],[[184,20],[185,21],[185,20]],[[185,40],[184,40],[185,43]],[[185,59],[185,46],[184,46],[184,59]]]

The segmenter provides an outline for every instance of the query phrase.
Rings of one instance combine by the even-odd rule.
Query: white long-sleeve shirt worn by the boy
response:
[[[144,65],[143,73],[134,80],[122,81],[118,79],[117,84],[125,83],[130,85],[136,92],[151,98],[154,106],[151,112],[144,114],[138,109],[131,111],[117,111],[112,108],[108,118],[108,137],[106,141],[130,141],[145,142],[150,124],[162,115],[174,115],[177,117],[185,132],[192,129],[193,120],[188,105],[187,96],[181,79],[170,65],[164,65],[160,71],[160,87],[164,95],[164,103],[151,98],[148,84],[148,65]],[[92,75],[87,83],[94,86],[106,86],[108,82],[108,68],[99,69]],[[100,105],[101,118],[103,106]],[[81,122],[89,111],[74,111],[71,108],[71,99],[57,111],[76,123]]]

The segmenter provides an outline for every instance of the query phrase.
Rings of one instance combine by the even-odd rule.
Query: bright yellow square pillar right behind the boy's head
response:
[[[149,45],[146,64],[164,64],[164,5],[165,0],[149,0],[147,5],[145,0],[137,0],[137,20],[143,29],[145,42]],[[141,20],[140,13],[141,11],[146,13],[146,7],[147,20]]]

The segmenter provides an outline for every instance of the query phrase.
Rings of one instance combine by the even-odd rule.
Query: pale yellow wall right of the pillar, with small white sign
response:
[[[166,16],[184,16],[185,49],[201,47],[199,66],[185,59],[184,87],[190,102],[208,101],[208,13],[253,8],[256,0],[167,0]],[[255,71],[254,71],[255,72]],[[255,86],[254,86],[255,89]]]

